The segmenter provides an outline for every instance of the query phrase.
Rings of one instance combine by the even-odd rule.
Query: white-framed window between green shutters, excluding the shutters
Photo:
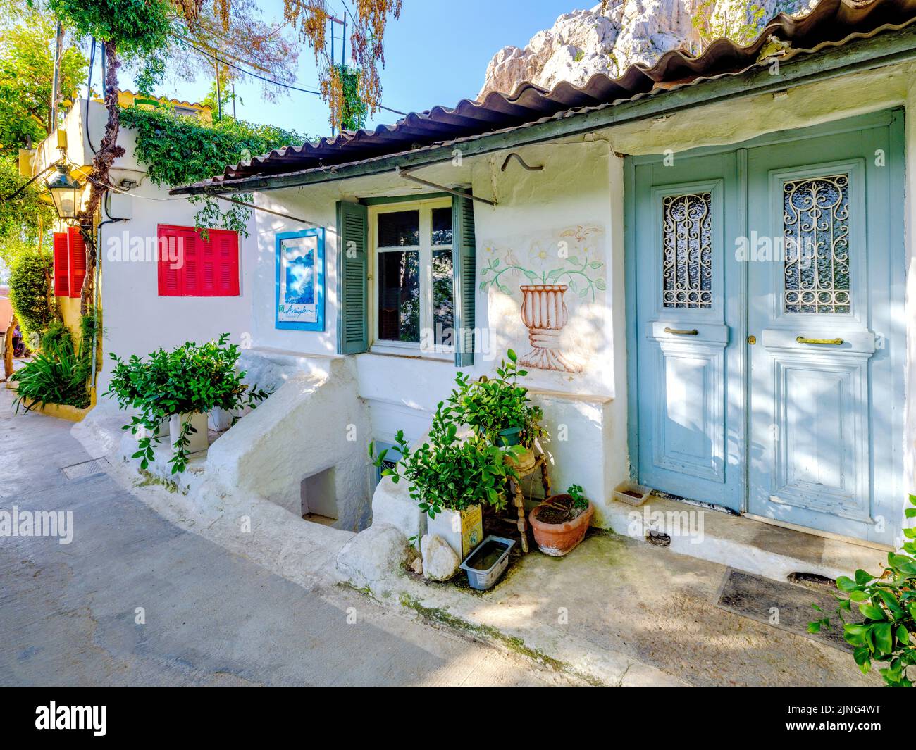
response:
[[[451,198],[374,206],[369,226],[376,270],[373,351],[453,352]]]

